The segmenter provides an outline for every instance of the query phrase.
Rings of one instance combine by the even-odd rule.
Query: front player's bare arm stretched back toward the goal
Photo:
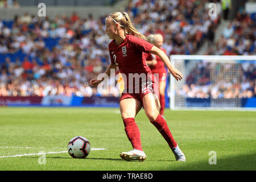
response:
[[[180,73],[180,71],[174,68],[168,56],[161,49],[153,46],[150,53],[160,57],[160,59],[164,62],[172,76],[174,76],[177,81],[182,79],[182,74]]]

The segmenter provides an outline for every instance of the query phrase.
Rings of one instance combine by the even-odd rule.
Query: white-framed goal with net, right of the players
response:
[[[172,55],[183,80],[170,80],[170,107],[256,109],[256,56]]]

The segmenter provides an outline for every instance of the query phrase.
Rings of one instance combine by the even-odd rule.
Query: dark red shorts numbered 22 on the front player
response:
[[[155,93],[159,99],[158,77],[155,77],[154,75],[150,75],[149,77],[150,79],[148,79],[146,82],[142,81],[139,83],[139,85],[136,85],[136,86],[139,86],[139,93],[134,93],[134,92],[129,93],[129,90],[128,92],[127,91],[123,92],[121,97],[119,98],[119,102],[126,98],[134,98],[139,102],[141,102],[141,104],[143,105],[143,97],[146,96],[146,94],[148,93]],[[136,86],[134,85],[134,87]]]

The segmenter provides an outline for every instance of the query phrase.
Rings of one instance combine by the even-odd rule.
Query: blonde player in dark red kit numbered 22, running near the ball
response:
[[[150,68],[146,65],[146,60],[142,52],[158,55],[177,81],[182,79],[181,73],[172,66],[163,51],[148,43],[146,41],[147,38],[134,28],[126,12],[114,12],[110,14],[106,18],[105,31],[109,38],[113,39],[109,43],[111,63],[106,69],[105,74],[110,76],[110,69],[116,69],[117,67],[122,74],[125,82],[125,90],[119,99],[119,107],[123,124],[125,125],[126,135],[134,148],[128,152],[121,152],[121,158],[123,160],[142,161],[146,159],[146,154],[141,146],[141,134],[134,119],[143,106],[148,119],[150,119],[150,122],[167,141],[172,152],[174,152],[176,160],[185,161],[185,155],[179,146],[177,146],[165,119],[159,115],[158,89],[155,89],[156,93],[154,92],[157,83]],[[133,77],[127,80],[126,78],[131,77],[131,75]],[[136,82],[136,78],[138,77],[142,79]],[[133,82],[134,79],[135,82]],[[92,78],[89,83],[92,86],[97,86],[103,80],[103,77]]]

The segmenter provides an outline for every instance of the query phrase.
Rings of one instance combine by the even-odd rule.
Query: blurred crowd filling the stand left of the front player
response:
[[[57,43],[50,49],[44,39]],[[0,53],[22,50],[24,60],[5,57],[1,65],[0,96],[91,96],[87,81],[109,64],[105,18],[56,16],[42,19],[25,13],[13,27],[0,20]]]

